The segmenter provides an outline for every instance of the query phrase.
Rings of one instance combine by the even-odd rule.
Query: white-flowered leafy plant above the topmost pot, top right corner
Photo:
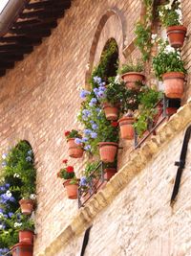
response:
[[[164,27],[181,25],[180,1],[159,6],[159,19]]]

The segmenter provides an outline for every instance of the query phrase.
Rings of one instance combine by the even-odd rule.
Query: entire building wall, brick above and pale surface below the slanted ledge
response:
[[[182,10],[188,33],[190,9],[189,1],[183,0]],[[110,14],[111,10],[112,14]],[[53,30],[53,35],[46,38],[42,45],[36,47],[32,55],[18,62],[13,70],[0,79],[0,151],[6,151],[17,140],[26,139],[35,152],[38,171],[38,208],[35,215],[37,237],[34,255],[51,244],[77,213],[76,200],[67,199],[62,182],[57,179],[56,173],[61,167],[61,160],[67,158],[63,132],[66,129],[78,128],[75,121],[80,105],[77,87],[85,84],[87,64],[90,60],[93,62],[94,57],[97,63],[102,47],[111,36],[117,40],[120,60],[123,61],[122,49],[134,38],[133,31],[139,14],[140,1],[137,0],[74,0],[72,8]],[[99,22],[104,15],[105,23]],[[100,33],[96,33],[97,30]],[[188,61],[187,67],[190,67],[191,60],[189,45],[188,38],[183,48],[183,57]],[[185,100],[190,94],[187,85]],[[185,175],[183,177],[187,189],[181,192],[182,200],[177,203],[177,212],[173,214],[168,205],[172,189],[171,181],[176,170],[173,162],[175,155],[179,156],[181,139],[182,132],[171,144],[176,145],[174,155],[171,151],[171,158],[166,157],[165,151],[159,154],[156,161],[136,176],[114,203],[97,217],[87,255],[139,256],[144,255],[141,253],[147,244],[150,244],[148,250],[151,252],[147,251],[150,254],[146,255],[157,255],[152,254],[156,244],[164,249],[166,246],[167,248],[171,246],[168,241],[176,244],[187,241],[189,237],[183,236],[183,231],[189,223],[186,221],[187,215],[185,214],[185,225],[176,222],[181,220],[180,209],[183,210],[186,205],[181,202],[189,197],[187,172],[184,173],[188,175],[187,179]],[[120,151],[120,162],[126,163],[126,149],[131,143],[122,144],[126,146]],[[167,150],[170,151],[171,148],[168,146]],[[80,170],[83,161],[84,159],[71,159],[70,163]],[[162,161],[161,166],[160,161]],[[164,163],[168,163],[168,167],[164,166]],[[185,193],[186,197],[182,193]],[[186,201],[189,204],[189,198]],[[185,213],[188,211],[186,207]],[[110,217],[113,221],[108,224]],[[176,224],[171,226],[173,220]],[[156,228],[153,230],[153,227],[158,225],[159,235]],[[173,240],[163,239],[172,236],[168,233],[168,228],[175,229],[175,232],[172,231]],[[182,238],[179,243],[178,238]],[[106,241],[109,241],[108,245],[105,244]],[[58,254],[76,256],[82,238],[73,243],[66,251],[60,251]],[[162,243],[167,245],[164,246]],[[117,246],[113,246],[114,244]],[[75,250],[70,252],[72,247]],[[128,252],[130,248],[132,254]],[[106,249],[108,249],[107,253]],[[170,255],[161,253],[159,255]]]

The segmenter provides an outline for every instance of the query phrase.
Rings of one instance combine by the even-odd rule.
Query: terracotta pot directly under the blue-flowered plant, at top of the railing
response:
[[[118,144],[115,142],[100,142],[98,146],[101,161],[104,163],[113,163],[117,154]]]

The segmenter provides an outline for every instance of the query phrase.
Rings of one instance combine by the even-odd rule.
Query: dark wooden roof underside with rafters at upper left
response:
[[[57,19],[64,16],[71,7],[72,0],[26,1],[24,9],[11,23],[8,32],[0,36],[0,77],[7,69],[14,67],[15,61],[32,53],[33,47],[50,36],[57,26]]]

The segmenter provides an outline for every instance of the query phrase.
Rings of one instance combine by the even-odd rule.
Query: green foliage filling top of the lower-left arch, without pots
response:
[[[6,166],[2,170],[2,175],[6,181],[13,178],[17,181],[17,186],[12,186],[11,191],[20,192],[21,197],[29,198],[35,193],[36,179],[31,146],[25,141],[20,141],[11,149],[5,161]]]

